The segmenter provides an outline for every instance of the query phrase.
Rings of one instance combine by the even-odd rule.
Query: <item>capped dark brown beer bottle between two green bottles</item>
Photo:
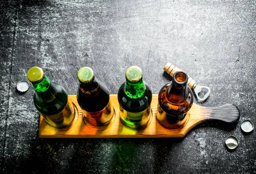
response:
[[[108,88],[94,77],[90,67],[81,67],[77,73],[80,81],[77,101],[84,112],[84,118],[94,126],[103,126],[113,118]]]

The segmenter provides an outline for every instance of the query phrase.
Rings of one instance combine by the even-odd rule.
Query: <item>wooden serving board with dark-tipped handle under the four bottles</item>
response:
[[[239,109],[233,104],[220,107],[202,107],[193,104],[187,113],[189,118],[183,127],[166,129],[156,119],[157,94],[153,94],[151,102],[151,122],[142,130],[128,129],[119,120],[119,103],[116,94],[110,95],[110,100],[115,110],[111,123],[106,126],[92,126],[83,119],[83,112],[76,101],[76,95],[69,95],[73,102],[75,119],[73,123],[63,129],[56,129],[48,125],[40,115],[39,138],[172,138],[184,137],[190,129],[204,121],[223,121],[227,124],[239,120]]]

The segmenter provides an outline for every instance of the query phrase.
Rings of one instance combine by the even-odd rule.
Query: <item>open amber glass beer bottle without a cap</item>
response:
[[[187,85],[188,76],[177,71],[172,81],[165,84],[158,94],[157,121],[166,128],[183,126],[192,107],[193,93]]]

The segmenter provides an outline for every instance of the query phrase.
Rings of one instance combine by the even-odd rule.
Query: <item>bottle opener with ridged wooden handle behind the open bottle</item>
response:
[[[168,62],[165,67],[163,68],[165,70],[166,73],[168,73],[170,76],[173,76],[174,73],[176,73],[177,71],[181,71],[180,68],[176,67],[175,65],[171,64],[170,62]],[[209,96],[211,90],[209,87],[205,87],[205,86],[200,86],[197,85],[195,80],[193,80],[190,76],[188,76],[188,86],[193,89],[195,91],[195,95],[198,98],[199,101],[205,101],[207,99],[207,97]],[[204,95],[203,98],[199,97],[199,93],[201,92],[201,90],[203,88],[206,88],[208,90],[208,92]]]

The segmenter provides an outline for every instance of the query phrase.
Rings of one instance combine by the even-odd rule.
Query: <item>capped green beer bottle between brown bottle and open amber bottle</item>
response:
[[[128,128],[143,129],[148,126],[152,117],[151,89],[143,81],[140,67],[128,67],[125,77],[126,81],[117,93],[120,121]]]

